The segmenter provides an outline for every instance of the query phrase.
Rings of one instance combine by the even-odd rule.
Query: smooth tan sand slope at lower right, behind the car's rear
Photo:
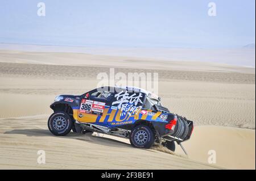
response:
[[[228,169],[255,169],[255,129],[218,126],[195,127],[191,140],[183,143],[189,158],[208,163],[209,150],[216,164]],[[178,148],[176,153],[182,153]]]

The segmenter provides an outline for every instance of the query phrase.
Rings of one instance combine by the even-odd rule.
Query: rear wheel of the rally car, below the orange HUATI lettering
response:
[[[151,128],[147,125],[138,125],[133,128],[130,134],[130,143],[137,148],[151,148],[154,144],[155,136]]]

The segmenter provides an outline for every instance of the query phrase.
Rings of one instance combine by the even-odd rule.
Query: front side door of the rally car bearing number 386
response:
[[[93,90],[85,94],[80,103],[78,119],[83,123],[96,123],[104,125],[105,112],[112,100],[113,95],[108,91]]]

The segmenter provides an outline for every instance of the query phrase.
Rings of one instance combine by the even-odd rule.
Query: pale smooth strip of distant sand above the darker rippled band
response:
[[[0,44],[1,45],[1,44]],[[101,66],[102,68],[143,68],[154,70],[217,71],[255,74],[255,68],[202,61],[173,61],[159,58],[138,58],[108,56],[88,53],[67,52],[25,52],[20,50],[0,50],[0,62],[40,64]]]

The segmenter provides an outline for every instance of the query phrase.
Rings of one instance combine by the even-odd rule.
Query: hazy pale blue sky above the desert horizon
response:
[[[38,3],[46,16],[38,16]],[[208,3],[216,3],[216,16]],[[255,0],[1,1],[0,42],[236,48],[255,43]]]

